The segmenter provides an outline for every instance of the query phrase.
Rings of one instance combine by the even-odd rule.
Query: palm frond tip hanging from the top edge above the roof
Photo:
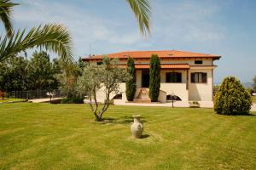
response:
[[[149,20],[151,16],[151,8],[148,0],[126,0],[130,4],[133,13],[135,14],[143,36],[150,34]]]

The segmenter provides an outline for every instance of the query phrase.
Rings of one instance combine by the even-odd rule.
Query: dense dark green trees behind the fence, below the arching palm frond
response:
[[[57,89],[60,82],[55,75],[60,73],[59,59],[51,62],[45,52],[35,52],[30,60],[10,57],[0,62],[0,90]]]

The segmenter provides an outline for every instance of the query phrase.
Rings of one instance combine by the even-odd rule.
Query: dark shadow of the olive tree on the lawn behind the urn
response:
[[[143,120],[144,117],[141,117],[141,122],[145,123],[147,121]],[[102,124],[131,124],[133,122],[132,116],[121,116],[119,118],[112,118],[112,117],[104,117],[102,119]]]

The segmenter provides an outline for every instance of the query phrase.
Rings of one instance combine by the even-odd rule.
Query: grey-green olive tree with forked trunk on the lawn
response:
[[[102,61],[103,65],[87,65],[77,82],[78,90],[88,96],[90,109],[99,122],[111,103],[110,94],[118,94],[119,83],[129,77],[125,69],[118,67],[117,60],[105,56]],[[97,99],[100,90],[105,97],[102,105]]]

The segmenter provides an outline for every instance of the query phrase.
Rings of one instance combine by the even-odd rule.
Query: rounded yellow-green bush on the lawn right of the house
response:
[[[222,115],[248,114],[252,99],[241,82],[235,77],[226,77],[214,96],[214,111]]]

